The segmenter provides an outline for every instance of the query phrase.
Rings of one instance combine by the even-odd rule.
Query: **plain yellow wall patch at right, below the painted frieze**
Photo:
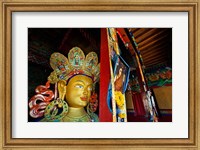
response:
[[[172,86],[153,89],[159,109],[172,109]]]

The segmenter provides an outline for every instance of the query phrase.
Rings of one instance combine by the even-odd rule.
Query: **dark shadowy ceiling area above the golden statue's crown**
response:
[[[29,28],[28,60],[51,68],[49,58],[53,52],[67,56],[69,50],[80,47],[87,54],[96,51],[100,55],[100,30],[95,28]]]

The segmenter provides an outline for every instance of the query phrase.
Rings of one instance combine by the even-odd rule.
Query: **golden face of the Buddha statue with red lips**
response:
[[[84,75],[72,77],[66,86],[66,101],[70,107],[87,106],[92,91],[92,79]]]

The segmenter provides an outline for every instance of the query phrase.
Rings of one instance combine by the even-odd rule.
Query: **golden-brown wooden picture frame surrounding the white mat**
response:
[[[24,1],[5,0],[0,2],[1,23],[0,41],[1,50],[1,100],[0,100],[0,147],[1,149],[199,149],[199,39],[200,39],[200,2],[199,0],[172,0],[167,2],[157,0],[142,0],[140,2],[106,1],[101,2],[83,0],[46,0]],[[12,138],[12,13],[13,12],[114,12],[114,11],[136,11],[136,12],[188,12],[189,16],[189,97],[188,97],[188,128],[189,136],[185,139],[40,139],[40,138]]]

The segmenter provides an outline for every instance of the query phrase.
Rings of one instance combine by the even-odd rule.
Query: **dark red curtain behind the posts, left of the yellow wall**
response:
[[[146,114],[141,93],[132,93],[132,100],[136,116],[144,116]]]

